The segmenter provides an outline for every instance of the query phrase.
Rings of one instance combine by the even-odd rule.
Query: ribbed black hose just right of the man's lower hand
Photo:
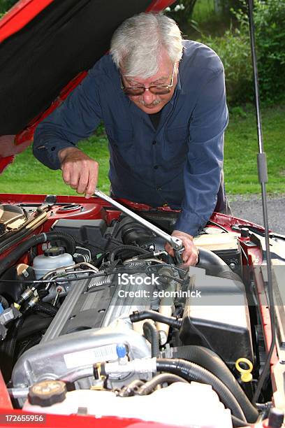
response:
[[[205,248],[199,247],[199,262],[196,266],[205,269],[207,275],[220,277],[228,275],[232,280],[242,281],[238,273],[233,272],[221,257]]]

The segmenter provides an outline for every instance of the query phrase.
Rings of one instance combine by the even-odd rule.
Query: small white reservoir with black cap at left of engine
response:
[[[36,256],[33,262],[33,268],[36,279],[42,278],[45,273],[54,271],[60,267],[71,266],[75,264],[72,255],[64,252],[62,247],[51,247],[45,250],[43,255]]]

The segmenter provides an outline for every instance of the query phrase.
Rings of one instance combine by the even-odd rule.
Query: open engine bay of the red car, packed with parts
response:
[[[61,198],[0,206],[1,371],[15,408],[185,427],[264,416],[270,378],[251,402],[265,362],[258,226],[211,217],[185,269],[163,234],[102,201]],[[131,208],[173,231],[177,212]]]

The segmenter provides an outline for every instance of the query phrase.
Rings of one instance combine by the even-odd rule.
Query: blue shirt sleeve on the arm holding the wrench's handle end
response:
[[[48,168],[59,169],[59,150],[75,147],[98,127],[102,115],[96,82],[100,77],[91,69],[66,101],[38,124],[33,153]]]

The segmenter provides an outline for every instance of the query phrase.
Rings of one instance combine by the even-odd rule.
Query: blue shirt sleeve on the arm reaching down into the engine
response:
[[[175,229],[192,236],[205,226],[217,203],[227,124],[224,69],[221,68],[212,72],[203,86],[189,124],[185,196]]]

